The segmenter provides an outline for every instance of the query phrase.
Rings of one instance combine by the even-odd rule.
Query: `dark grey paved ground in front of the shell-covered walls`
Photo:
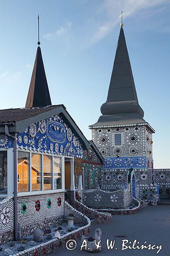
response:
[[[143,208],[135,215],[113,216],[111,224],[94,224],[91,227],[90,236],[94,235],[95,228],[102,229],[102,250],[95,253],[99,256],[170,256],[170,206],[158,205]],[[125,236],[117,238],[116,236]],[[106,240],[115,240],[113,249],[107,249]],[[122,250],[122,240],[140,241],[141,245],[147,241],[147,245],[162,245],[162,249],[157,254],[158,249],[126,249]],[[128,246],[130,244],[127,244]],[[57,250],[51,256],[88,256],[89,252],[80,251],[81,241],[77,242],[77,248],[68,250],[65,247]],[[117,250],[115,249],[117,247]]]

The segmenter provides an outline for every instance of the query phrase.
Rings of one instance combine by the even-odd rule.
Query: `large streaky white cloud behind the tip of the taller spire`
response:
[[[169,3],[169,0],[104,0],[98,9],[98,15],[104,15],[105,19],[102,23],[97,24],[91,44],[107,36],[120,23],[120,18],[118,17],[121,10],[124,12],[123,20],[141,11],[145,11],[145,13],[142,13],[144,19],[154,15],[155,12],[163,11],[165,9],[163,5],[166,3]],[[161,8],[156,9],[158,7]]]

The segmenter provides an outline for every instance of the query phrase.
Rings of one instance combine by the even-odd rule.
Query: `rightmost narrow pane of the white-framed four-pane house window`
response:
[[[61,189],[61,184],[61,157],[54,157],[54,189]]]

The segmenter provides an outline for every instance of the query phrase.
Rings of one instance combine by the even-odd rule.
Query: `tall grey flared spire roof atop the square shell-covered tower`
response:
[[[137,99],[123,27],[120,28],[107,100],[94,125],[141,123],[144,112]]]

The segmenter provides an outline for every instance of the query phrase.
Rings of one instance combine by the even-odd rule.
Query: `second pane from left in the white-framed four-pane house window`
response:
[[[31,158],[32,191],[42,190],[41,155],[32,154]]]

